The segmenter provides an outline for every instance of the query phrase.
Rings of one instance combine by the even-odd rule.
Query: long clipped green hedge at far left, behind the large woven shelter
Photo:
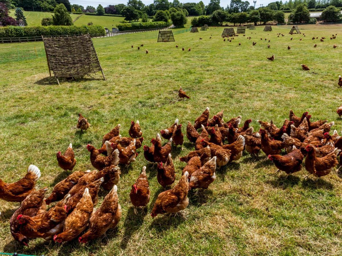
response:
[[[106,31],[102,26],[38,26],[38,27],[19,27],[7,26],[0,28],[0,38],[8,37],[40,37],[41,35],[79,35],[79,34],[101,34]]]

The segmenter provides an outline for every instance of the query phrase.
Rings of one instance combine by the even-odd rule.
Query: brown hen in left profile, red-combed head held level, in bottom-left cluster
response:
[[[39,215],[30,217],[27,215],[19,214],[17,221],[19,223],[19,232],[27,238],[44,238],[45,240],[51,239],[51,232],[53,229],[58,229],[58,224],[63,224],[67,217],[66,202],[70,197],[67,194],[64,199],[56,204],[56,206],[43,212]]]

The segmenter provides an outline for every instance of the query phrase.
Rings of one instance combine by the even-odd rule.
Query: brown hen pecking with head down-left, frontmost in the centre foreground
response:
[[[154,218],[158,214],[164,213],[177,215],[179,211],[184,210],[189,204],[188,190],[188,172],[185,172],[174,188],[163,191],[158,195],[151,217]]]

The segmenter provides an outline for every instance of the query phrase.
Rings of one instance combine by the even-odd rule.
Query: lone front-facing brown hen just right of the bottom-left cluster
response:
[[[143,167],[139,178],[132,185],[129,196],[134,206],[134,214],[138,214],[136,208],[144,208],[148,204],[150,198],[150,190],[146,176],[146,166]]]

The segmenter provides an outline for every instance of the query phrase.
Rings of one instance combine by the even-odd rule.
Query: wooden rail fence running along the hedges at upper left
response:
[[[170,28],[177,28],[177,26],[165,27],[165,28],[151,28],[151,29],[138,29],[138,30],[127,30],[127,31],[119,31],[116,33],[107,33],[105,35],[102,34],[93,34],[92,38],[101,38],[101,37],[115,37],[116,35],[124,35],[124,34],[132,34],[132,33],[141,33],[141,32],[149,32],[156,30],[167,30]],[[44,37],[60,37],[66,35],[53,35],[53,36],[44,36]],[[37,42],[42,41],[42,37],[15,37],[15,38],[0,38],[0,43],[23,43],[23,42]]]

